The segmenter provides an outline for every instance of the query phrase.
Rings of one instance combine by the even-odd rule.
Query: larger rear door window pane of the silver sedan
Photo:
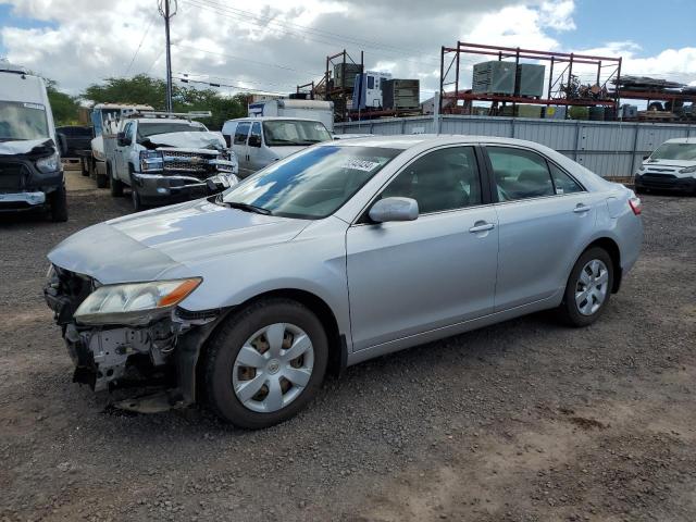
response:
[[[496,179],[498,201],[554,196],[554,184],[546,160],[522,149],[488,147]]]

